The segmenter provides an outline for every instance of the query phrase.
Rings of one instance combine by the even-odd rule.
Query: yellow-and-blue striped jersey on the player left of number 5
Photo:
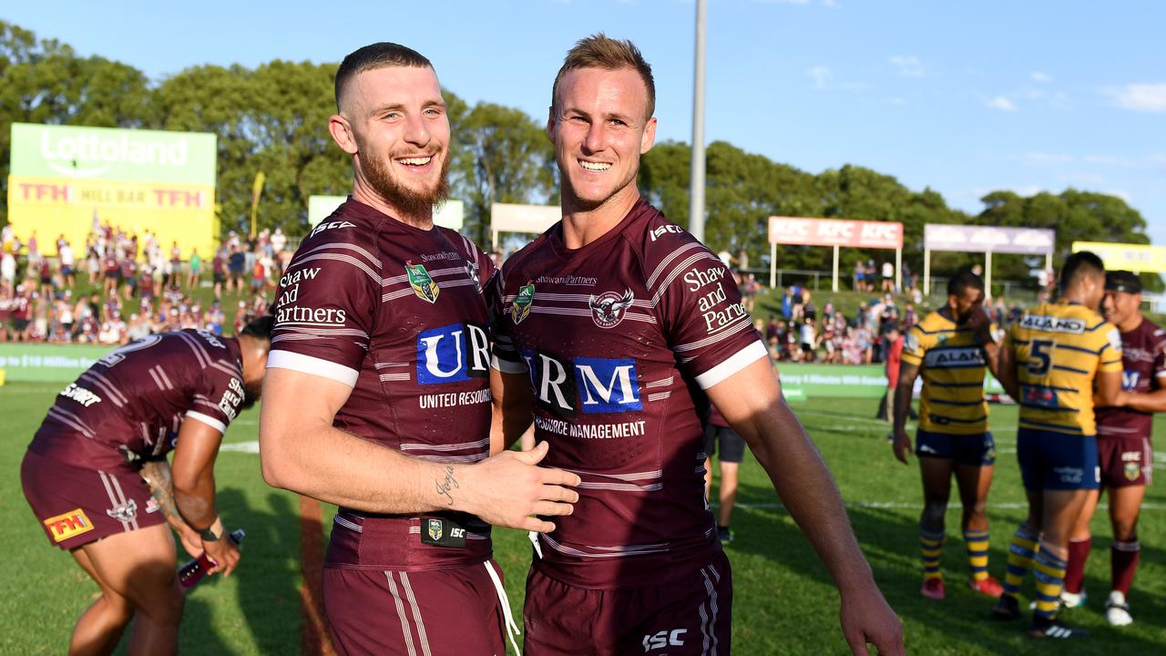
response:
[[[988,361],[971,328],[933,312],[907,329],[902,362],[919,367],[923,378],[920,430],[956,435],[988,432]]]

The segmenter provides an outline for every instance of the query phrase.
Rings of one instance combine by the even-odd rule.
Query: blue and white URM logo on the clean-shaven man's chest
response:
[[[543,353],[522,351],[534,396],[562,417],[575,413],[642,410],[634,360],[576,357],[561,361]]]

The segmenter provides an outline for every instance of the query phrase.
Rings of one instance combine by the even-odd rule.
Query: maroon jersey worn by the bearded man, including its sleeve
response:
[[[280,279],[267,367],[350,385],[337,428],[424,460],[483,460],[491,405],[482,285],[492,275],[490,258],[456,231],[420,230],[350,197]],[[423,544],[435,517],[465,529],[466,546]],[[469,515],[342,508],[328,566],[429,570],[490,553],[490,526]]]

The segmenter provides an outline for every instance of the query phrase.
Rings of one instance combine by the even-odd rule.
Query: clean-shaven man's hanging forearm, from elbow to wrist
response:
[[[869,582],[870,565],[855,539],[842,496],[801,423],[784,402],[758,420],[764,424],[756,426],[757,433],[771,432],[771,437],[756,440],[754,455],[835,584],[845,592]]]

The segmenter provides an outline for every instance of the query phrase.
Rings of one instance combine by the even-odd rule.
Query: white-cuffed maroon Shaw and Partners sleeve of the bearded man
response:
[[[372,226],[337,215],[304,239],[280,278],[268,368],[356,385],[381,306],[375,244]]]

